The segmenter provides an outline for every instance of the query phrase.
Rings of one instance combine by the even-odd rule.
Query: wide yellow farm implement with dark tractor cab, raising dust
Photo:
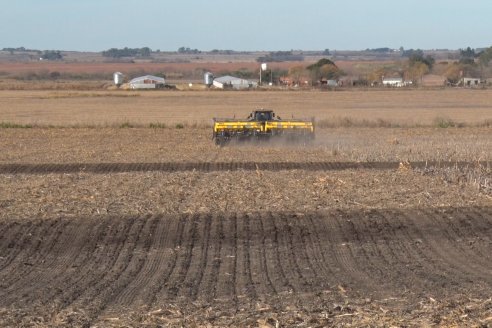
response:
[[[232,139],[257,140],[286,137],[292,141],[314,138],[314,119],[282,120],[272,110],[253,111],[246,120],[214,118],[213,137],[216,144],[224,145]]]

